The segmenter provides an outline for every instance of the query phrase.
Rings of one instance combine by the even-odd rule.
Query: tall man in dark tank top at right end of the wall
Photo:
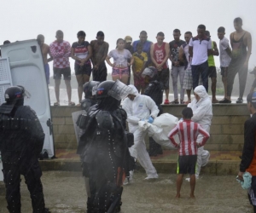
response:
[[[247,82],[248,62],[252,53],[252,36],[250,32],[242,28],[241,18],[234,20],[236,32],[230,34],[232,55],[227,77],[227,97],[220,103],[231,103],[230,97],[233,89],[236,73],[239,76],[239,98],[236,103],[242,103],[242,96]]]

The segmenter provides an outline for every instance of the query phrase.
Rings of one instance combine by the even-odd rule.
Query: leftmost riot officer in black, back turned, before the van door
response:
[[[23,106],[22,86],[6,89],[0,107],[0,151],[9,212],[20,213],[20,175],[31,194],[33,213],[49,212],[44,206],[42,171],[38,156],[44,145],[44,131],[31,107]]]

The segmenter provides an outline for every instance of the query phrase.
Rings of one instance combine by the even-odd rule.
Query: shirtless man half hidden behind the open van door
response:
[[[37,40],[38,40],[38,44],[41,48],[42,55],[43,55],[46,81],[47,81],[47,84],[49,84],[49,64],[48,64],[48,62],[53,60],[53,58],[52,58],[52,56],[49,55],[49,45],[44,43],[44,36],[39,34],[37,37]],[[47,55],[50,56],[49,59],[47,58]]]

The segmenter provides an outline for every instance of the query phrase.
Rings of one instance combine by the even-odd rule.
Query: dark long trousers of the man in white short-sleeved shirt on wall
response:
[[[198,86],[201,74],[203,86],[208,92],[208,61],[202,63],[201,65],[191,65],[191,69],[193,78],[193,89],[195,89]]]

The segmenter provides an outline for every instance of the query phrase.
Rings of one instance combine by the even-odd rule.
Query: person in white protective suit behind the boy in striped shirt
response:
[[[204,130],[207,130],[210,133],[210,126],[212,124],[212,101],[207,94],[207,90],[204,86],[200,85],[194,89],[195,99],[189,103],[193,111],[192,121],[201,125]],[[197,137],[197,143],[201,142],[203,139],[202,135]],[[204,147],[198,148],[197,153],[197,167],[195,170],[195,177],[198,178],[201,167],[205,166],[208,163],[210,158],[210,153],[207,150],[204,150]]]

